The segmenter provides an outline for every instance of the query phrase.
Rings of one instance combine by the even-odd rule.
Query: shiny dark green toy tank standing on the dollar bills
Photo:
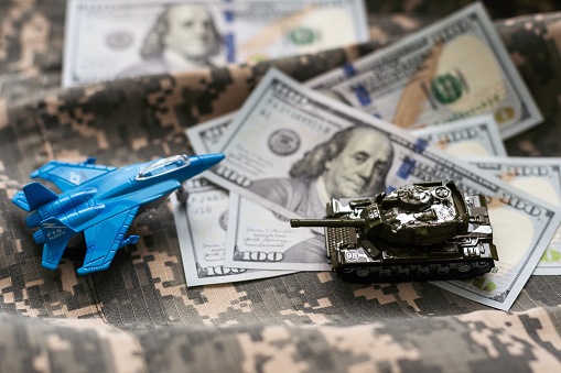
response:
[[[453,182],[407,185],[375,198],[333,198],[327,219],[290,223],[325,227],[327,257],[347,281],[470,278],[498,260],[484,197],[464,198]]]

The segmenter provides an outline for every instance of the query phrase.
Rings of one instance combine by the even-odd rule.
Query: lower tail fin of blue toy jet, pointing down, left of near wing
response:
[[[76,234],[77,231],[56,218],[42,221],[41,231],[45,240],[41,265],[45,268],[54,270],[63,256],[68,240]]]

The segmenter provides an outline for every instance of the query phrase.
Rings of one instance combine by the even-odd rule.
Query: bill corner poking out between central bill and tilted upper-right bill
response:
[[[445,125],[430,125],[411,132],[427,140],[430,145],[458,156],[507,155],[495,119],[490,114],[463,119]]]

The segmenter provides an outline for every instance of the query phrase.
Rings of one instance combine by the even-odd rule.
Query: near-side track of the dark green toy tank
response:
[[[391,283],[408,281],[464,279],[481,276],[495,266],[493,259],[431,263],[347,264],[335,270],[337,275],[353,283]]]

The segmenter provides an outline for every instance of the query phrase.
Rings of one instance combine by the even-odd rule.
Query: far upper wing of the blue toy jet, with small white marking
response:
[[[110,166],[97,166],[96,158],[87,158],[82,163],[68,163],[51,161],[43,167],[35,169],[31,177],[41,177],[53,182],[62,191],[72,189],[84,182],[110,173],[117,168]]]

